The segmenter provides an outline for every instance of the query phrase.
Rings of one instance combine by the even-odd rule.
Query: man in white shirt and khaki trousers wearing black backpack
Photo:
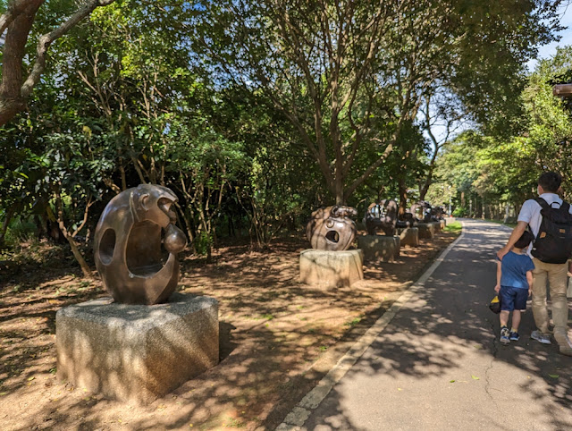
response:
[[[551,290],[554,339],[560,353],[572,356],[572,342],[568,339],[568,299],[566,297],[568,258],[572,254],[572,207],[562,201],[557,192],[562,177],[559,173],[546,172],[538,179],[537,199],[528,199],[518,214],[517,226],[507,244],[497,252],[502,259],[521,237],[526,227],[534,235],[528,253],[534,262],[532,309],[537,330],[531,338],[550,344],[549,317],[546,304],[548,282]]]

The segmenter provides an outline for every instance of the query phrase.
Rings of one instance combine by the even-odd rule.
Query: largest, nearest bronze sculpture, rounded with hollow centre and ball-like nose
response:
[[[95,260],[116,302],[158,304],[177,287],[177,253],[185,248],[187,238],[175,226],[171,207],[176,201],[166,187],[140,184],[122,191],[105,207],[96,228]],[[162,229],[166,259],[161,252]]]

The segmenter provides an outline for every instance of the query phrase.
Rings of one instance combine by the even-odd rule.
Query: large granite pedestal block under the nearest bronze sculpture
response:
[[[146,404],[218,363],[218,303],[173,293],[165,304],[90,300],[55,315],[57,375]]]

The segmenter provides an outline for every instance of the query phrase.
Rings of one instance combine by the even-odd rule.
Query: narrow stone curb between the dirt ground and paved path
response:
[[[349,350],[338,360],[336,365],[328,371],[328,373],[315,385],[314,389],[302,398],[301,401],[296,404],[296,406],[290,411],[290,413],[284,418],[282,423],[275,428],[275,431],[301,431],[304,428],[304,423],[307,418],[310,417],[312,411],[315,410],[324,398],[332,391],[334,385],[336,385],[341,377],[345,376],[356,362],[357,359],[366,352],[367,348],[371,346],[375,338],[382,333],[383,329],[390,324],[391,320],[400,311],[400,309],[408,303],[409,300],[425,286],[426,281],[433,275],[433,272],[437,267],[442,264],[442,261],[447,257],[450,250],[453,249],[459,241],[465,236],[465,224],[461,222],[462,232],[458,238],[451,242],[449,246],[444,249],[438,258],[433,261],[433,264],[429,266],[425,272],[412,283],[408,289],[403,292],[400,297],[391,304],[382,316],[380,316],[365,334],[363,334],[357,342],[355,342]]]

